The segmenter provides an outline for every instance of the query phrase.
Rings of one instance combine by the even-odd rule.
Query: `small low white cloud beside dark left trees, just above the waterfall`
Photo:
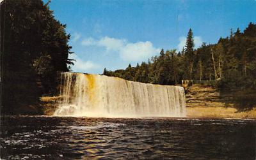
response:
[[[86,72],[100,67],[99,64],[92,61],[83,61],[83,59],[80,59],[76,54],[71,54],[69,58],[76,59],[76,61],[74,61],[74,66],[72,66],[72,70],[74,71]]]

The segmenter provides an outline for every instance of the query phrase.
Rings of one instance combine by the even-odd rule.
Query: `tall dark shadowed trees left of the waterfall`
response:
[[[8,112],[54,92],[57,71],[68,71],[72,64],[70,35],[52,13],[41,0],[1,3],[3,105]]]

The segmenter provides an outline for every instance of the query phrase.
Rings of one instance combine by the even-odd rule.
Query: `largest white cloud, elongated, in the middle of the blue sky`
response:
[[[155,48],[150,41],[138,41],[136,43],[129,43],[127,40],[118,38],[109,38],[108,36],[100,40],[93,38],[86,38],[82,41],[84,46],[98,46],[106,48],[106,52],[118,52],[120,58],[124,61],[143,61],[150,58],[154,54],[160,52],[159,48]]]

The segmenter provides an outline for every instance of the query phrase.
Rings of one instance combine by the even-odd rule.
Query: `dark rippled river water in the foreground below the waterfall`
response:
[[[1,159],[255,159],[255,120],[1,117]]]

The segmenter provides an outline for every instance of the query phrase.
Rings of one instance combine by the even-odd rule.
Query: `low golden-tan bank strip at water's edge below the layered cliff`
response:
[[[193,106],[187,107],[187,116],[193,118],[236,118],[236,119],[256,119],[256,108],[252,110],[238,112],[236,108],[222,106]]]

